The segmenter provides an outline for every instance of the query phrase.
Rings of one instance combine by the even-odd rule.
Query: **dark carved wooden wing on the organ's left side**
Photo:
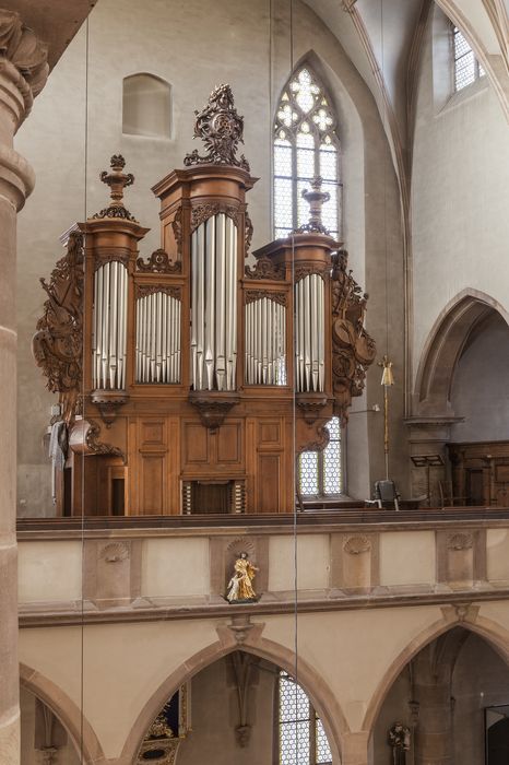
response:
[[[32,340],[35,362],[48,378],[48,389],[60,393],[68,424],[82,380],[83,278],[83,235],[72,232],[67,254],[57,262],[49,283],[40,280],[48,299]]]

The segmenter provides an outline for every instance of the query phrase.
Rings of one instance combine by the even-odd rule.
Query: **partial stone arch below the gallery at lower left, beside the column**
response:
[[[44,702],[72,739],[84,765],[102,765],[106,758],[100,743],[82,710],[56,683],[37,670],[20,663],[20,683]]]

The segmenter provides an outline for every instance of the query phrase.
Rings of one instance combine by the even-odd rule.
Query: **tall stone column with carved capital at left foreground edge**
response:
[[[16,487],[16,212],[34,173],[13,138],[46,82],[46,50],[0,9],[0,763],[20,762]]]

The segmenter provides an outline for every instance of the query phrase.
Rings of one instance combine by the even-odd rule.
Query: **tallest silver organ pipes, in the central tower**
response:
[[[191,237],[193,390],[235,390],[237,368],[237,226],[225,213]]]

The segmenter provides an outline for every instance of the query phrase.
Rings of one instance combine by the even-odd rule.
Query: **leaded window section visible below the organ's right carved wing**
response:
[[[303,496],[334,496],[343,491],[340,419],[327,424],[329,444],[323,451],[303,451],[298,464],[298,490]]]

